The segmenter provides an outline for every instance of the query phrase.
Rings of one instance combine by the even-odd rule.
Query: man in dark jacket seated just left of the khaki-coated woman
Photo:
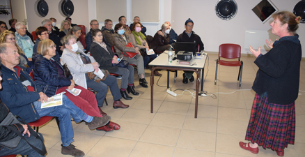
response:
[[[104,22],[104,27],[102,27],[103,41],[105,44],[112,47],[114,45],[114,29],[112,29],[112,21],[110,19],[106,19]]]

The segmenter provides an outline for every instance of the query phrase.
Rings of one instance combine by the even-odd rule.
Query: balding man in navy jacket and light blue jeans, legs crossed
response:
[[[47,49],[54,49],[47,47]],[[6,104],[10,112],[18,115],[27,123],[36,121],[40,117],[58,117],[61,133],[61,154],[72,156],[84,156],[84,152],[76,149],[73,144],[73,128],[71,116],[75,122],[86,121],[88,128],[104,126],[109,123],[110,117],[91,117],[75,106],[67,96],[63,95],[63,105],[56,107],[41,108],[42,100],[47,101],[47,96],[41,92],[42,89],[36,86],[31,76],[24,72],[18,65],[19,57],[17,47],[10,43],[0,44],[0,60],[3,89],[0,91],[0,98]],[[27,87],[27,88],[25,88]]]

